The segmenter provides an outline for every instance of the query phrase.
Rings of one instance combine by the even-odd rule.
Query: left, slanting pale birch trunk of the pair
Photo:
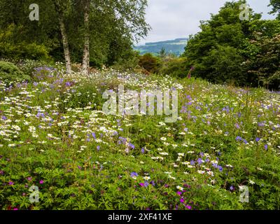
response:
[[[68,38],[66,34],[66,28],[63,20],[63,10],[61,6],[59,5],[58,1],[54,1],[55,3],[55,9],[58,14],[58,20],[59,20],[59,27],[62,34],[62,43],[63,43],[63,49],[64,49],[64,59],[65,59],[65,65],[66,65],[66,73],[71,73],[71,56],[69,51],[69,43]]]

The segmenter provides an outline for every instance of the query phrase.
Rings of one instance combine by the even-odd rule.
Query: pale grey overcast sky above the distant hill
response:
[[[148,0],[146,20],[152,30],[140,44],[188,37],[200,31],[200,20],[209,20],[210,13],[218,13],[226,0]],[[269,15],[269,0],[248,0],[255,13]]]

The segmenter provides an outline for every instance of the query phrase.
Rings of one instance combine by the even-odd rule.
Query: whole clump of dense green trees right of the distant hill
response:
[[[188,66],[195,67],[197,77],[279,90],[279,54],[275,50],[279,47],[279,20],[260,20],[260,14],[251,9],[248,21],[239,20],[239,6],[244,2],[227,2],[218,14],[202,21],[202,31],[190,36],[184,56]]]

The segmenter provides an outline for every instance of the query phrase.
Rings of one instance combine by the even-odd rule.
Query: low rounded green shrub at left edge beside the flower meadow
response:
[[[2,80],[8,80],[9,82],[30,81],[30,76],[22,73],[15,64],[10,62],[0,62],[0,77]]]

